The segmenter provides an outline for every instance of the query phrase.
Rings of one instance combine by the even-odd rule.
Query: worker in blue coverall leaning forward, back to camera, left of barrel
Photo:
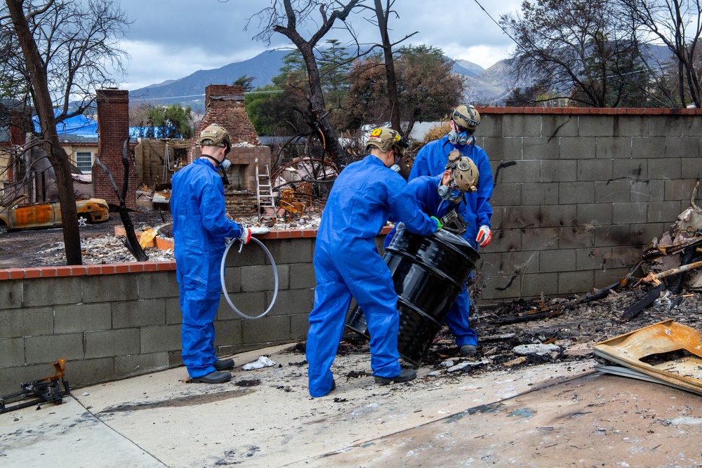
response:
[[[374,129],[366,140],[370,154],[347,166],[329,194],[314,246],[317,288],[307,333],[312,396],[324,396],[336,387],[331,364],[352,296],[366,317],[376,382],[406,382],[417,375],[399,366],[397,293],[374,241],[388,219],[425,236],[441,227],[439,220],[422,213],[415,197],[406,192],[404,178],[390,168],[407,146],[397,131]]]

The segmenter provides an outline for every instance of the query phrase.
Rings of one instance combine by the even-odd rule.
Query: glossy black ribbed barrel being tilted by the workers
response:
[[[421,236],[402,223],[397,225],[383,260],[397,292],[397,351],[402,359],[420,365],[478,258],[475,248],[456,234],[441,229]],[[366,319],[355,301],[346,326],[370,339]]]

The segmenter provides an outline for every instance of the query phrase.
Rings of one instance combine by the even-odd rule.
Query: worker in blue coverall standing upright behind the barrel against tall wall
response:
[[[461,216],[466,222],[463,237],[477,249],[487,246],[492,239],[490,218],[492,207],[490,198],[494,188],[490,161],[484,150],[475,145],[473,133],[480,124],[480,114],[472,105],[459,105],[453,110],[449,126],[451,131],[440,140],[428,143],[419,150],[409,174],[409,180],[421,175],[439,175],[444,172],[448,156],[457,149],[462,156],[468,156],[477,166],[480,178],[475,192],[465,194],[461,203],[465,209]],[[470,298],[468,290],[458,295],[444,323],[456,337],[456,345],[461,356],[470,356],[477,352],[477,334],[468,325]]]

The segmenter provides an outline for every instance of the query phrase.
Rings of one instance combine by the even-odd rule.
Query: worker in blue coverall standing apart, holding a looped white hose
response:
[[[215,356],[213,321],[220,302],[220,262],[225,238],[247,243],[251,229],[225,215],[224,186],[218,171],[231,165],[227,131],[216,123],[199,135],[201,156],[173,175],[171,213],[183,326],[183,363],[192,382],[231,380],[232,359]]]

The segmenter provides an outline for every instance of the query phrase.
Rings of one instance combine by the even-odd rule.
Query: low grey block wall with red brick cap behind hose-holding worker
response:
[[[259,236],[277,263],[279,291],[267,316],[242,319],[220,300],[218,355],[304,340],[314,302],[314,231]],[[272,300],[272,270],[256,244],[227,261],[234,305],[261,314]],[[175,262],[0,270],[0,394],[53,375],[67,359],[74,387],[182,365]],[[187,373],[183,369],[183,377]]]

